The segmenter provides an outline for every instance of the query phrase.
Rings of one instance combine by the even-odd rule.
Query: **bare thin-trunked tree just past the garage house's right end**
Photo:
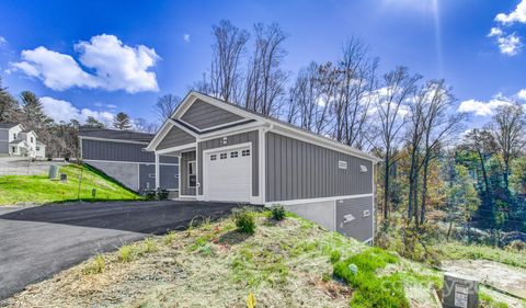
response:
[[[384,87],[376,91],[376,110],[384,159],[384,219],[389,217],[390,175],[400,145],[400,134],[407,123],[408,99],[414,93],[419,75],[410,76],[408,69],[399,67],[384,76]]]

